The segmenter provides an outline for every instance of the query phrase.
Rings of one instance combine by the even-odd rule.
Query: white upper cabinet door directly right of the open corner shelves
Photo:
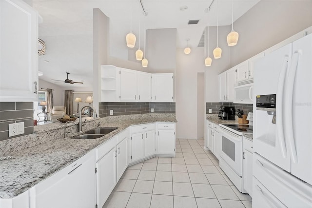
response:
[[[137,71],[120,68],[120,101],[137,101]]]

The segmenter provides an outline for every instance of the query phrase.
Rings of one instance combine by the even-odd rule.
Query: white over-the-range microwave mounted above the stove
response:
[[[254,95],[254,82],[253,80],[239,83],[234,87],[234,102],[239,104],[253,104]]]

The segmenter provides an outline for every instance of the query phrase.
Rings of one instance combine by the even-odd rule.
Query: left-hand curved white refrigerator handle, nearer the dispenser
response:
[[[277,139],[279,140],[279,146],[281,149],[281,154],[283,158],[286,158],[286,143],[285,143],[285,137],[284,137],[284,131],[283,131],[283,100],[284,100],[284,83],[285,83],[285,77],[286,72],[288,68],[288,60],[289,57],[285,57],[283,60],[283,66],[282,70],[279,73],[279,78],[277,82],[277,93],[276,93],[276,133],[277,133]]]

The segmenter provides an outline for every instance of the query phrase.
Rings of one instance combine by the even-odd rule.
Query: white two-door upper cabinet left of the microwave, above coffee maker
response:
[[[219,74],[219,101],[234,101],[234,86],[236,84],[235,67]]]

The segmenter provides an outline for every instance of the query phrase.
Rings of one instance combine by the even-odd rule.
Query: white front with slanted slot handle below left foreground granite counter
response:
[[[91,208],[96,206],[95,152],[29,189],[30,208]]]

